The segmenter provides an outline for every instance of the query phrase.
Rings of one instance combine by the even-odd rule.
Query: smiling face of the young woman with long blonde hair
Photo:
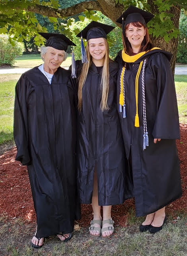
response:
[[[96,66],[102,66],[104,56],[106,54],[106,45],[104,38],[93,38],[89,40],[89,52],[92,56],[92,61]]]

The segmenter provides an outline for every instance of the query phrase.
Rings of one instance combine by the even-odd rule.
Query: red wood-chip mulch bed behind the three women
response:
[[[181,139],[177,140],[179,158],[181,161],[181,177],[183,196],[167,206],[168,214],[175,216],[176,212],[187,212],[187,125],[180,125]],[[0,156],[0,216],[5,220],[22,218],[35,222],[28,171],[20,162],[15,161],[16,147]],[[134,200],[127,200],[123,205],[112,206],[112,218],[116,224],[126,226],[128,213],[134,209]],[[92,219],[91,205],[82,206],[81,226],[89,226]]]

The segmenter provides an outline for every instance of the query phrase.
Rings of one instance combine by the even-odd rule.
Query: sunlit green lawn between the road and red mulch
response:
[[[13,140],[14,87],[20,74],[0,75],[0,144]],[[176,75],[180,123],[187,124],[187,76]]]

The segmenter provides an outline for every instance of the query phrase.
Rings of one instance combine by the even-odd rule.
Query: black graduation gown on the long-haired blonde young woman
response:
[[[81,70],[82,65],[76,62]],[[118,65],[109,64],[109,110],[100,108],[101,75],[92,63],[83,86],[83,107],[77,118],[77,175],[81,202],[91,204],[94,170],[98,177],[98,204],[122,204],[125,200],[125,153],[116,110],[116,75]],[[79,72],[78,72],[79,73]]]

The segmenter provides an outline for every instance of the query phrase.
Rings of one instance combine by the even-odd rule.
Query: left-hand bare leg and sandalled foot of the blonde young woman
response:
[[[92,208],[93,208],[93,219],[94,220],[101,220],[101,215],[100,215],[100,206],[98,205],[98,182],[97,182],[97,173],[96,169],[94,172],[94,186],[93,186],[93,196],[92,196]],[[93,224],[92,226],[96,228],[100,228],[99,224]],[[92,235],[99,235],[100,232],[97,230],[90,230],[90,234]]]

